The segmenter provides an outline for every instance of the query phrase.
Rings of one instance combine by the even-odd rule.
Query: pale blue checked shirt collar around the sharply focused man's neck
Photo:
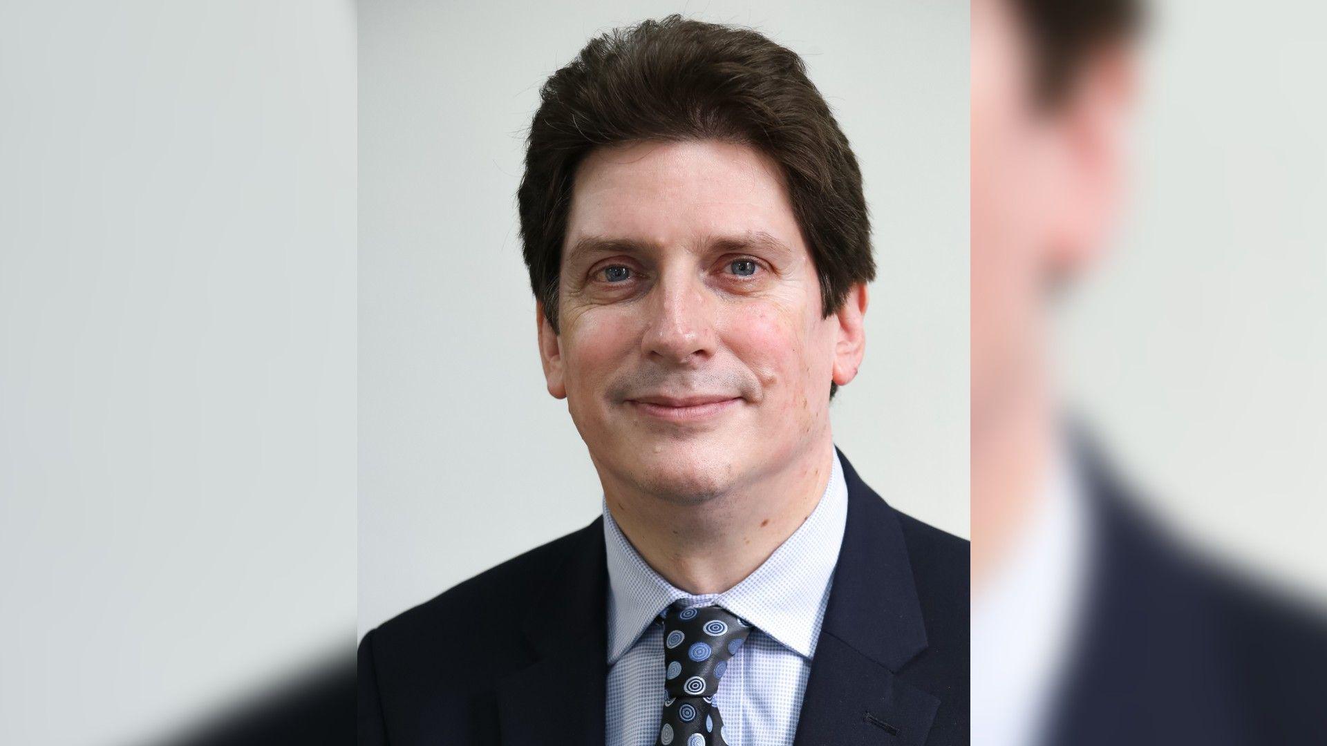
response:
[[[604,500],[608,552],[608,662],[636,644],[650,623],[674,601],[718,604],[805,658],[815,654],[825,599],[848,520],[848,485],[835,453],[824,494],[811,515],[744,580],[725,591],[695,596],[654,571],[613,520]]]

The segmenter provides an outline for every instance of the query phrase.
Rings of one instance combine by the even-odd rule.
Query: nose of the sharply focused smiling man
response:
[[[690,272],[660,277],[645,304],[649,323],[641,338],[646,357],[669,365],[697,365],[714,354],[714,300]]]

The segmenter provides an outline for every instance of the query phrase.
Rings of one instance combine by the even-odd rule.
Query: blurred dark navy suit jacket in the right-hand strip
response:
[[[1320,616],[1182,548],[1074,441],[1093,565],[1044,746],[1327,743]]]

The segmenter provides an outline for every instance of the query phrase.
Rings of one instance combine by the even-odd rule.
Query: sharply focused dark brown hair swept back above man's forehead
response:
[[[518,191],[529,284],[557,331],[576,167],[594,147],[723,139],[779,163],[829,316],[874,277],[861,171],[802,58],[742,28],[673,15],[589,41],[540,89]]]

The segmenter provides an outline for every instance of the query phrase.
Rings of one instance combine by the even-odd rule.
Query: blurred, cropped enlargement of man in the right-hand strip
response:
[[[1047,325],[1101,250],[1132,0],[973,3],[977,743],[1323,743],[1315,620],[1181,551],[1059,413]]]

